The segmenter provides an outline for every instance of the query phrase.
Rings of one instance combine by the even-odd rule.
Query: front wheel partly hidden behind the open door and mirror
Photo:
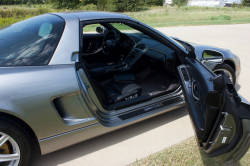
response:
[[[228,75],[231,82],[235,85],[235,82],[236,82],[235,72],[231,66],[229,66],[228,64],[224,64],[224,63],[215,66],[213,72],[215,74],[219,74],[220,71],[224,71]]]

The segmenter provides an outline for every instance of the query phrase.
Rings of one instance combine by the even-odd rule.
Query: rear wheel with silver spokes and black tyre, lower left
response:
[[[26,166],[31,154],[30,140],[17,124],[0,120],[0,165]]]

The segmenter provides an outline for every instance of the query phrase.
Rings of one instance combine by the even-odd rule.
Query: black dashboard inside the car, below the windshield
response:
[[[174,75],[176,74],[175,52],[169,47],[146,35],[121,33],[119,42],[123,49],[122,53],[126,57],[124,62],[128,64],[129,68],[136,67],[140,60],[147,59],[152,65],[161,67]]]

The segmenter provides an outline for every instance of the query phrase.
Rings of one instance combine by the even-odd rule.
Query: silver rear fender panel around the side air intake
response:
[[[55,97],[81,94],[74,65],[5,67],[1,73],[1,112],[25,121],[38,139],[95,123],[67,125],[53,107]]]

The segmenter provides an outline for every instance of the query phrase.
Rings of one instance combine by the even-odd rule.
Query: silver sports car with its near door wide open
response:
[[[51,13],[5,27],[0,66],[1,165],[27,165],[33,142],[43,155],[185,105],[207,157],[233,163],[250,145],[239,58],[126,15]]]

